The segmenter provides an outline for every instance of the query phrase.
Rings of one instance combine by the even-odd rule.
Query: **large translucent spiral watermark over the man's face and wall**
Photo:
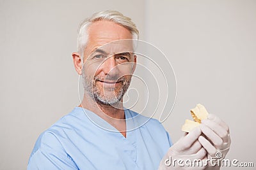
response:
[[[100,110],[102,104],[118,109],[124,105],[124,110],[134,110],[145,116],[139,124],[128,125],[127,131],[137,129],[150,118],[161,123],[168,118],[175,104],[177,85],[170,60],[159,48],[138,39],[120,39],[99,46],[93,52],[84,50],[83,56],[83,74],[78,81],[82,107],[86,93],[96,104],[101,104],[98,105]],[[84,110],[99,127],[116,131],[87,112]]]

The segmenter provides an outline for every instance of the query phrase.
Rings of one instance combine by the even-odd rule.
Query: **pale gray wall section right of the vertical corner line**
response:
[[[173,140],[189,109],[202,103],[230,126],[228,158],[256,164],[256,1],[150,0],[145,9],[145,39],[177,76],[177,102],[164,122]]]

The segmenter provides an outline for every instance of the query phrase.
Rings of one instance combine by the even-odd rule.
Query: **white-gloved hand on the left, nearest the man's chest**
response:
[[[202,167],[193,167],[193,166],[186,166],[186,160],[195,160],[195,159],[202,159],[205,160],[207,157],[207,152],[202,147],[200,142],[198,141],[199,136],[202,134],[200,127],[196,127],[193,131],[186,134],[182,138],[177,141],[173,146],[170,147],[166,155],[164,155],[163,159],[160,162],[159,170],[163,169],[205,169],[204,166]],[[171,160],[172,159],[172,160]],[[175,162],[170,165],[170,162],[173,160],[183,160],[181,163],[184,166],[179,166],[178,162]],[[167,164],[167,166],[166,166]]]

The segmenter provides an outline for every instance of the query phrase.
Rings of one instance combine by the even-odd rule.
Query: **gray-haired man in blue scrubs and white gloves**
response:
[[[83,101],[40,135],[28,169],[172,169],[170,157],[205,160],[217,150],[225,157],[228,126],[214,115],[172,145],[157,120],[123,107],[136,68],[134,39],[136,25],[118,11],[82,22],[72,57],[83,76]]]

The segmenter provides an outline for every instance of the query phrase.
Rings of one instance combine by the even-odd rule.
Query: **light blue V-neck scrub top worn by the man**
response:
[[[124,111],[126,138],[92,111],[74,108],[39,136],[28,169],[157,169],[172,146],[168,132],[156,119]]]

